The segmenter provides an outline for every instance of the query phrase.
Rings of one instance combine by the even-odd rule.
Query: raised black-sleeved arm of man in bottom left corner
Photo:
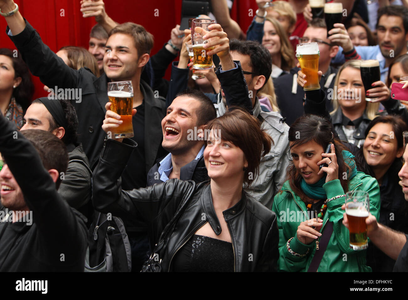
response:
[[[58,253],[60,260],[64,253],[64,264],[84,260],[86,227],[79,221],[67,202],[62,200],[55,189],[55,183],[44,169],[41,158],[34,146],[17,131],[16,127],[0,115],[0,152],[7,167],[16,179],[24,201],[32,211],[44,247]]]

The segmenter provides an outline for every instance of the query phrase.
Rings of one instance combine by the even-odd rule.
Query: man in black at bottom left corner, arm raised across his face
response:
[[[43,130],[23,136],[3,116],[0,133],[1,203],[9,211],[0,220],[0,271],[83,271],[84,220],[57,191],[68,164],[64,143]]]

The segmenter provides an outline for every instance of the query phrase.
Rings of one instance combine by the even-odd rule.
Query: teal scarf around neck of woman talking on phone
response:
[[[351,175],[349,174],[349,171],[347,170],[347,176],[348,179],[352,179],[354,176],[357,175],[357,167],[355,164],[355,161],[353,160],[354,155],[351,154],[349,151],[343,150],[341,152],[343,155],[344,162],[348,164],[348,166],[351,169]],[[307,184],[306,181],[302,178],[300,182],[300,187],[302,188],[302,191],[306,194],[306,196],[312,198],[312,199],[327,199],[326,191],[323,188],[323,184],[326,183],[326,176],[327,173],[324,173],[324,176],[320,178],[318,182],[315,184]]]

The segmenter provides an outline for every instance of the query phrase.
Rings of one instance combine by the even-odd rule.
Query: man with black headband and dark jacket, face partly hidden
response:
[[[78,118],[69,100],[38,98],[28,107],[20,130],[40,129],[53,133],[67,147],[69,162],[58,192],[71,207],[91,221],[92,173],[82,144],[77,143]]]

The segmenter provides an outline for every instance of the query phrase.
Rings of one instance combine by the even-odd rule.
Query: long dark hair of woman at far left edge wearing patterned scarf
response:
[[[0,55],[8,56],[13,62],[14,78],[21,77],[21,83],[13,91],[13,97],[16,98],[18,104],[21,105],[24,111],[31,104],[31,99],[34,94],[34,84],[31,81],[31,73],[27,64],[22,60],[19,53],[15,56],[14,52],[7,48],[0,48]]]

